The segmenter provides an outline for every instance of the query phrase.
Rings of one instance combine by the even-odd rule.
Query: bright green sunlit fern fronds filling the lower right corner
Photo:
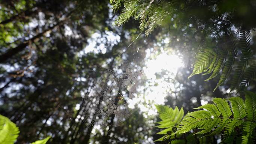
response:
[[[256,128],[256,94],[249,91],[245,91],[245,94],[245,102],[240,97],[214,98],[214,104],[205,104],[194,108],[197,111],[186,114],[181,121],[177,112],[176,116],[169,115],[172,108],[158,105],[157,110],[162,121],[158,122],[161,125],[157,127],[167,128],[158,132],[158,134],[167,134],[170,128],[177,126],[177,131],[164,137],[171,137],[193,130],[195,131],[193,135],[201,134],[202,137],[222,134],[222,140],[228,143],[234,133],[239,133],[236,129],[238,128],[242,129],[242,132],[238,134],[239,137],[236,139],[240,140],[242,144],[252,143]],[[173,124],[174,122],[175,124]],[[164,140],[164,137],[157,141]],[[230,143],[233,143],[233,141]]]

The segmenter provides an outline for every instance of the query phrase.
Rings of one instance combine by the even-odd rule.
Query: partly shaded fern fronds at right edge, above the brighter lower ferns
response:
[[[196,56],[193,72],[195,74],[211,74],[205,81],[218,76],[220,79],[214,91],[232,74],[231,90],[244,89],[255,79],[256,62],[252,58],[252,31],[238,30],[238,37],[231,31],[224,37],[225,43],[216,48],[204,48]]]

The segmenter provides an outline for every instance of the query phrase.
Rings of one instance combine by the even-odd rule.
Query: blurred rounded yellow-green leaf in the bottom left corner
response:
[[[0,125],[0,144],[14,144],[18,138],[19,128],[2,115],[0,115]]]

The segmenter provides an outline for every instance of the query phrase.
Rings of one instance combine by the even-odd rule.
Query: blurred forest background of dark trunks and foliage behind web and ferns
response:
[[[229,95],[231,83],[213,92],[218,78],[204,82],[209,76],[189,80],[188,76],[202,48],[225,43],[223,31],[255,28],[255,1],[125,2],[136,1],[138,10],[125,19],[122,10],[127,7],[122,0],[115,12],[108,0],[0,0],[0,114],[19,127],[17,143],[51,136],[47,144],[153,144],[161,136],[156,135],[160,129],[153,127],[159,118],[149,113],[156,113],[155,101],[147,98],[152,86],[167,83],[165,93],[155,98],[172,108],[183,107],[185,113],[214,97]],[[141,12],[147,7],[143,19]],[[165,15],[159,17],[161,12]],[[136,15],[143,21],[134,20]],[[254,31],[251,36],[253,59]],[[87,128],[79,113],[92,83],[116,63],[127,60],[144,69],[161,53],[178,56],[183,65],[179,63],[168,77],[168,67],[173,69],[177,59],[167,60],[169,65],[141,87],[132,115],[111,127],[110,134],[98,125]],[[254,80],[247,89],[256,92]],[[232,91],[232,95],[240,94]]]

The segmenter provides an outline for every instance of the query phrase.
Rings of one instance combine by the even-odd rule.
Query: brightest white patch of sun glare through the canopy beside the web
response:
[[[180,67],[183,67],[182,59],[178,55],[168,55],[167,52],[147,60],[143,67],[147,77],[146,86],[149,87],[145,98],[155,101],[156,104],[164,104],[165,96],[174,89],[173,79]]]

